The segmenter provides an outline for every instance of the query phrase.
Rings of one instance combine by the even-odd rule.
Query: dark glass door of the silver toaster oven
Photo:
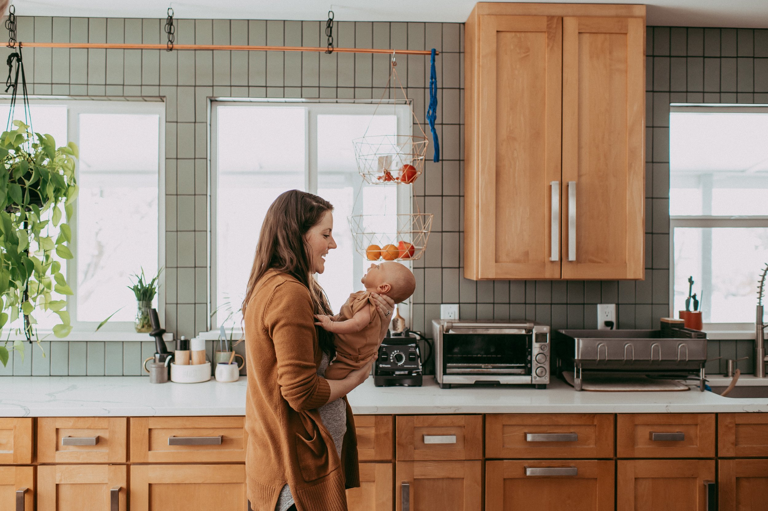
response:
[[[530,333],[444,333],[445,374],[531,374]]]

